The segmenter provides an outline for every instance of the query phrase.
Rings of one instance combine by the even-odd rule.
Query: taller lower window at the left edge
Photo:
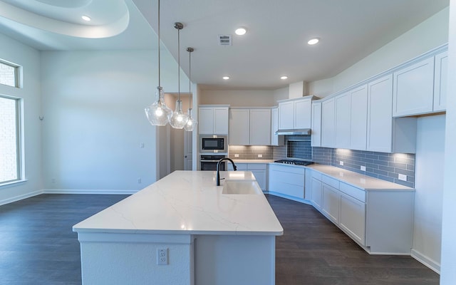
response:
[[[19,100],[0,95],[0,184],[21,180]]]

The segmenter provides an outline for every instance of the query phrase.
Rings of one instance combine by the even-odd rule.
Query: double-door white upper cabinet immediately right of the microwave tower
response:
[[[230,145],[271,145],[271,109],[231,108]]]

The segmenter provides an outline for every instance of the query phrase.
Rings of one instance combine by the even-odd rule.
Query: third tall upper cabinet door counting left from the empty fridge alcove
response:
[[[350,93],[338,95],[336,100],[336,147],[348,148],[350,145]]]

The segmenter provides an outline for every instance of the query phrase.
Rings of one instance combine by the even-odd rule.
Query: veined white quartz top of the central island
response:
[[[254,180],[252,172],[220,172]],[[263,193],[224,195],[216,172],[175,171],[73,226],[73,232],[281,235],[284,229]],[[222,180],[223,183],[224,180]]]

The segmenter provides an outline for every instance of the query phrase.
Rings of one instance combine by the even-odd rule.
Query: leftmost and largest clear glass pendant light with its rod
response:
[[[146,107],[145,115],[151,125],[166,125],[172,116],[172,110],[165,104],[165,93],[160,84],[160,0],[158,0],[158,86],[155,93],[156,101]]]

